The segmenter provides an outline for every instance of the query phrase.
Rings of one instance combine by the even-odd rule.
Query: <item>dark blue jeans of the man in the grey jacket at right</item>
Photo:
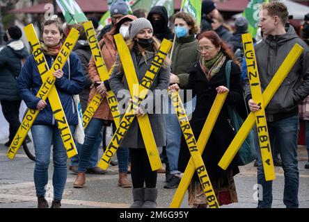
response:
[[[271,151],[274,157],[274,144],[279,149],[282,167],[285,175],[285,188],[283,193],[283,203],[286,207],[299,207],[299,169],[297,161],[297,139],[299,134],[298,114],[293,117],[281,119],[279,121],[267,122]],[[255,130],[256,133],[256,130]],[[257,135],[255,135],[257,138]],[[263,200],[259,200],[259,208],[270,208],[273,200],[272,181],[264,178],[260,145],[255,138],[255,145],[258,153],[258,183],[263,188]]]

